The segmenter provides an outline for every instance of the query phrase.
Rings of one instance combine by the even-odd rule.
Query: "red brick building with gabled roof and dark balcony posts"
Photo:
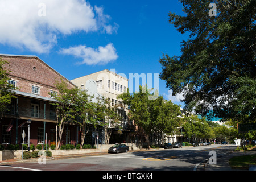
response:
[[[26,133],[24,139],[28,140],[28,119],[30,125],[30,144],[56,144],[56,113],[51,102],[55,99],[51,97],[51,92],[57,92],[56,81],[65,80],[69,86],[75,86],[49,67],[37,56],[21,55],[0,55],[0,58],[7,60],[5,69],[9,73],[9,82],[16,88],[17,97],[8,106],[0,122],[0,144],[20,144],[22,143],[22,132]],[[23,125],[22,125],[23,124]],[[78,127],[65,126],[61,143],[75,144],[78,140]]]

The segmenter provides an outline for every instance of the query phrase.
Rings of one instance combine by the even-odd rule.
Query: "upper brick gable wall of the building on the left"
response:
[[[21,92],[31,93],[32,86],[37,86],[40,88],[40,96],[50,97],[48,93],[51,90],[56,91],[55,83],[60,82],[61,79],[67,81],[69,86],[74,86],[36,56],[0,55],[0,57],[8,61],[9,64],[5,64],[4,68],[11,71],[9,77],[17,82],[17,87]]]

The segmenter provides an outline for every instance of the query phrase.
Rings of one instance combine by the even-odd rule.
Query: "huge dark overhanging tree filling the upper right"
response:
[[[227,119],[256,119],[256,1],[181,0],[185,16],[169,14],[177,31],[189,33],[181,55],[160,58],[160,78],[173,95],[184,94],[185,109]]]

